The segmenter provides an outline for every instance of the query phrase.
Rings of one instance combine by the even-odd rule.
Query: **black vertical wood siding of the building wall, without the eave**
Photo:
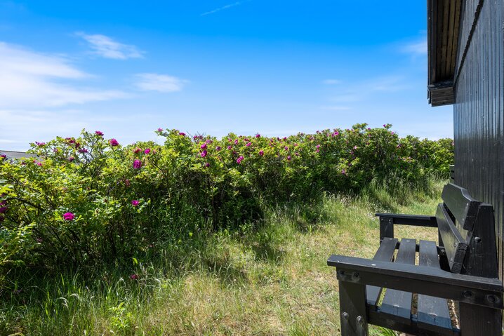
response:
[[[453,108],[456,183],[496,210],[499,274],[504,265],[504,4],[465,0]]]

